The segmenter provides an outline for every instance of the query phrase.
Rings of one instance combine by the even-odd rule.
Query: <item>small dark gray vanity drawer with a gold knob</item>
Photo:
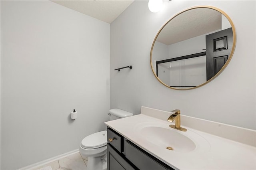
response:
[[[116,148],[116,150],[118,150],[119,152],[124,151],[122,140],[123,138],[120,134],[108,128],[108,143],[111,144],[114,148]]]

